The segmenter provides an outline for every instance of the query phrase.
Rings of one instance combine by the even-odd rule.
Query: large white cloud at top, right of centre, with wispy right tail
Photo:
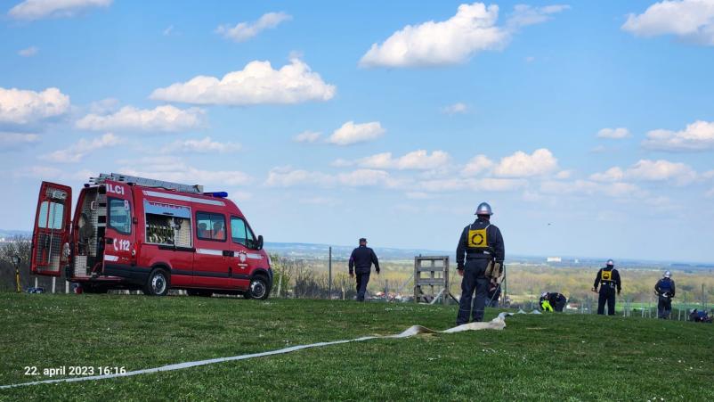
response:
[[[447,21],[407,25],[381,45],[371,46],[360,61],[363,67],[442,66],[466,62],[475,53],[502,49],[520,27],[546,21],[566,6],[516,6],[506,27],[499,27],[499,6],[461,4]]]

